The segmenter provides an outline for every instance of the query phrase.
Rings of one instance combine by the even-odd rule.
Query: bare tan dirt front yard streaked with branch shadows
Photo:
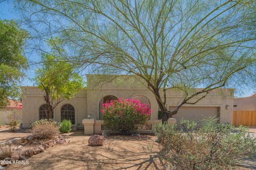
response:
[[[15,133],[0,129],[0,141],[28,135],[25,130]],[[164,169],[163,162],[158,158],[158,143],[153,135],[142,138],[124,136],[107,137],[105,145],[88,146],[89,136],[83,132],[63,135],[69,143],[54,145],[38,155],[29,158],[28,165],[11,165],[9,169]],[[256,167],[254,158],[246,160],[242,167]]]

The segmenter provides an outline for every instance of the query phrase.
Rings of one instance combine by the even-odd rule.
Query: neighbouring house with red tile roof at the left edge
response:
[[[11,114],[15,120],[21,123],[22,122],[21,109],[22,109],[21,101],[14,101],[9,99],[9,105],[7,105],[3,111],[0,111],[0,125],[9,123],[9,118],[7,118],[8,114]]]

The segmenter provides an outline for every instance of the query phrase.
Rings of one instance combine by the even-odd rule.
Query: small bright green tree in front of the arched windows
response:
[[[50,119],[55,107],[65,99],[74,98],[83,89],[84,83],[75,68],[55,53],[43,53],[42,63],[36,70],[35,81],[38,88],[44,91],[47,119]]]

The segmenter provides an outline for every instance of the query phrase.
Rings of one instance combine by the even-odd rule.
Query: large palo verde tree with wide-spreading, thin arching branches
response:
[[[214,89],[256,82],[254,0],[27,0],[17,6],[35,35],[65,42],[74,65],[146,82],[163,122]],[[166,92],[173,88],[184,95],[169,111]]]

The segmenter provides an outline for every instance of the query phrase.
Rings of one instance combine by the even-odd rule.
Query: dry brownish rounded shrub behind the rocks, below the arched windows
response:
[[[31,128],[31,134],[36,139],[52,139],[59,134],[59,127],[55,121],[37,121]]]

